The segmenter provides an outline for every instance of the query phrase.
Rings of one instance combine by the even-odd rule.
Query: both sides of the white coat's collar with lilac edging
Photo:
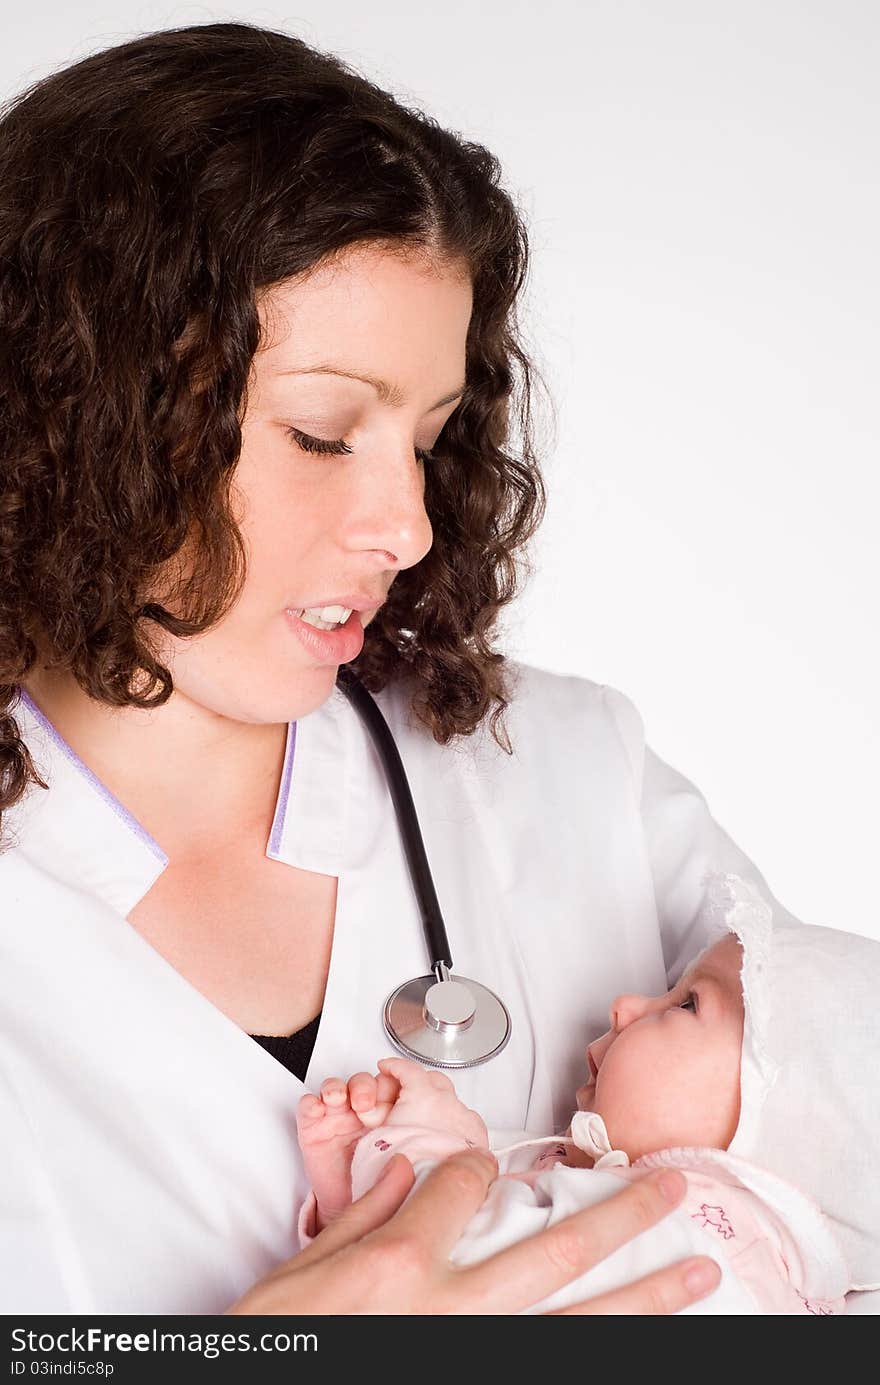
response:
[[[4,835],[42,870],[104,900],[123,917],[169,857],[85,765],[22,690],[14,711],[21,740],[49,792],[30,785],[3,814]],[[266,856],[338,875],[345,860],[353,713],[338,688],[309,716],[290,722]]]

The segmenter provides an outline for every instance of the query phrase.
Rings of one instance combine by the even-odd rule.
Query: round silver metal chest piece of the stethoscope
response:
[[[406,1058],[432,1068],[475,1068],[510,1039],[506,1006],[486,986],[464,976],[416,976],[388,996],[385,1033]]]

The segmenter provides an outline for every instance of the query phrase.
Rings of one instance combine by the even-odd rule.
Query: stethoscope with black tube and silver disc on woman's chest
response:
[[[427,976],[406,981],[388,996],[382,1007],[385,1033],[399,1053],[428,1068],[475,1068],[495,1058],[510,1039],[507,1007],[478,981],[450,975],[446,927],[394,737],[363,683],[345,663],[340,665],[337,686],[358,712],[382,762],[431,957]]]

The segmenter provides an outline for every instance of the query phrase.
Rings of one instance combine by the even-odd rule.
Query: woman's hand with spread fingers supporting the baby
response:
[[[227,1313],[518,1313],[662,1220],[685,1197],[685,1179],[667,1169],[479,1265],[453,1266],[449,1252],[496,1174],[498,1163],[485,1151],[452,1155],[402,1206],[414,1176],[409,1161],[395,1155],[364,1197]],[[715,1262],[698,1256],[560,1312],[676,1313],[719,1278]]]

